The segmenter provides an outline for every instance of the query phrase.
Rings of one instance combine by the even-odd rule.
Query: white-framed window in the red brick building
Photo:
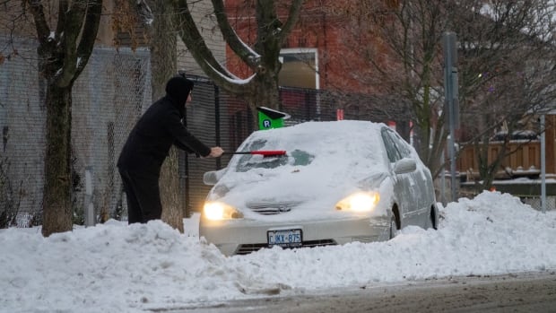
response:
[[[284,48],[280,51],[282,70],[278,76],[284,87],[318,89],[316,48]]]

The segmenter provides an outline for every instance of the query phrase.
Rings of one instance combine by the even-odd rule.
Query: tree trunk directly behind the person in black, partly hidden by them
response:
[[[149,1],[155,16],[173,16],[174,9],[166,1]],[[177,74],[177,39],[171,18],[155,18],[151,29],[152,100],[166,94],[166,82]],[[162,221],[184,232],[184,203],[179,190],[178,149],[172,147],[161,169]]]

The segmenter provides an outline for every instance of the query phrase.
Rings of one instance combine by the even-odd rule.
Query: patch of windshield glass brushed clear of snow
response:
[[[248,145],[247,151],[264,150],[266,141],[258,139]],[[236,171],[246,172],[253,169],[276,169],[285,165],[305,166],[310,164],[315,156],[309,152],[294,150],[286,155],[264,156],[260,154],[244,154],[239,158]]]

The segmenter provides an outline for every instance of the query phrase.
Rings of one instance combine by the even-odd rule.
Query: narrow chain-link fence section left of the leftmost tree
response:
[[[36,48],[30,40],[13,40],[17,54],[0,65],[0,224],[15,224],[20,210],[39,210],[44,178],[44,139],[40,134],[45,128],[45,108]],[[8,41],[2,38],[1,42],[4,47]]]

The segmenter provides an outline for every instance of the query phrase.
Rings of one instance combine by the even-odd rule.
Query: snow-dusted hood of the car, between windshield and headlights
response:
[[[245,218],[287,220],[304,217],[315,219],[336,213],[335,204],[361,190],[379,190],[386,180],[384,172],[358,175],[334,175],[313,169],[291,169],[273,173],[253,170],[226,176],[213,187],[208,199],[222,201],[237,208]],[[339,179],[342,178],[343,179]],[[349,178],[349,179],[348,179]],[[271,216],[272,215],[272,216]]]

